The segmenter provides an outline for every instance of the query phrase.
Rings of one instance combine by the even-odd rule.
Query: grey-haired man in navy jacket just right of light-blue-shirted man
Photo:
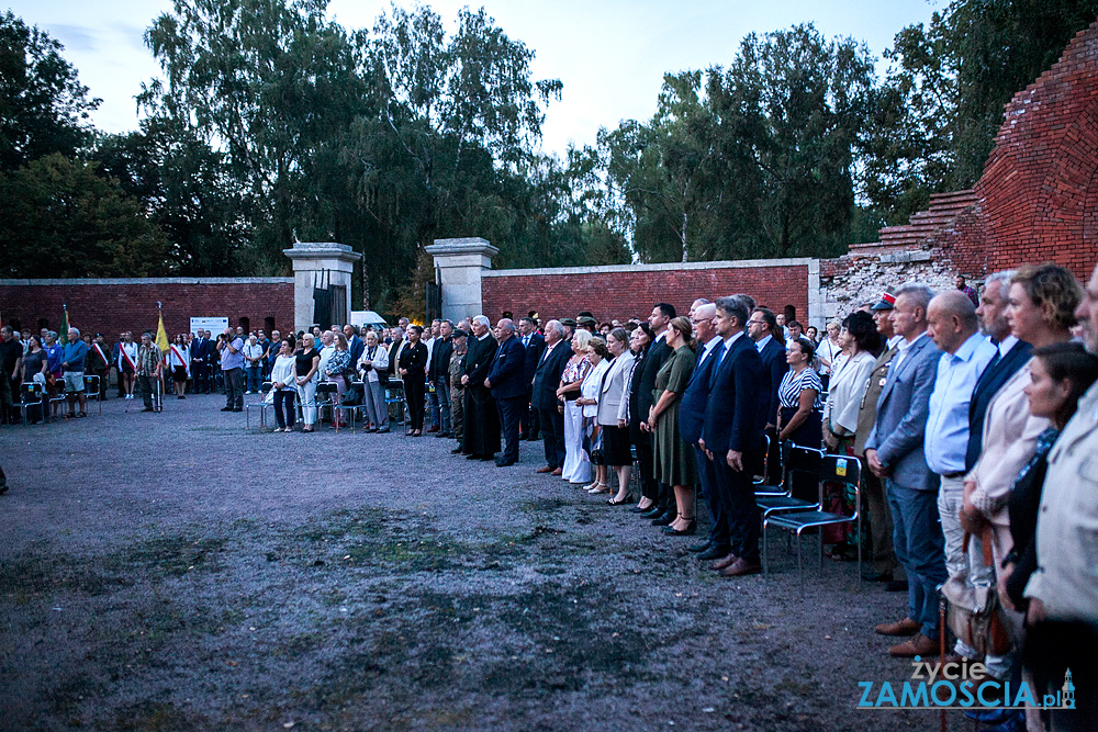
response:
[[[979,299],[976,315],[981,329],[991,339],[998,352],[979,374],[976,388],[968,404],[968,450],[965,453],[965,470],[971,471],[984,447],[984,418],[987,407],[998,391],[1010,381],[1030,359],[1030,345],[1010,335],[1007,323],[1007,291],[1013,272],[996,272],[984,282],[984,295]]]

